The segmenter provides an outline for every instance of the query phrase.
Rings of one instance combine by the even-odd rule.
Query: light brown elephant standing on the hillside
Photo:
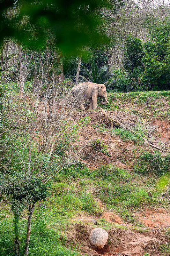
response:
[[[97,96],[102,97],[104,100],[101,101],[103,105],[107,104],[107,92],[104,84],[96,84],[91,82],[84,82],[76,84],[71,93],[73,97],[78,101],[78,105],[81,110],[84,110],[84,100],[89,100],[90,109],[97,108]]]

